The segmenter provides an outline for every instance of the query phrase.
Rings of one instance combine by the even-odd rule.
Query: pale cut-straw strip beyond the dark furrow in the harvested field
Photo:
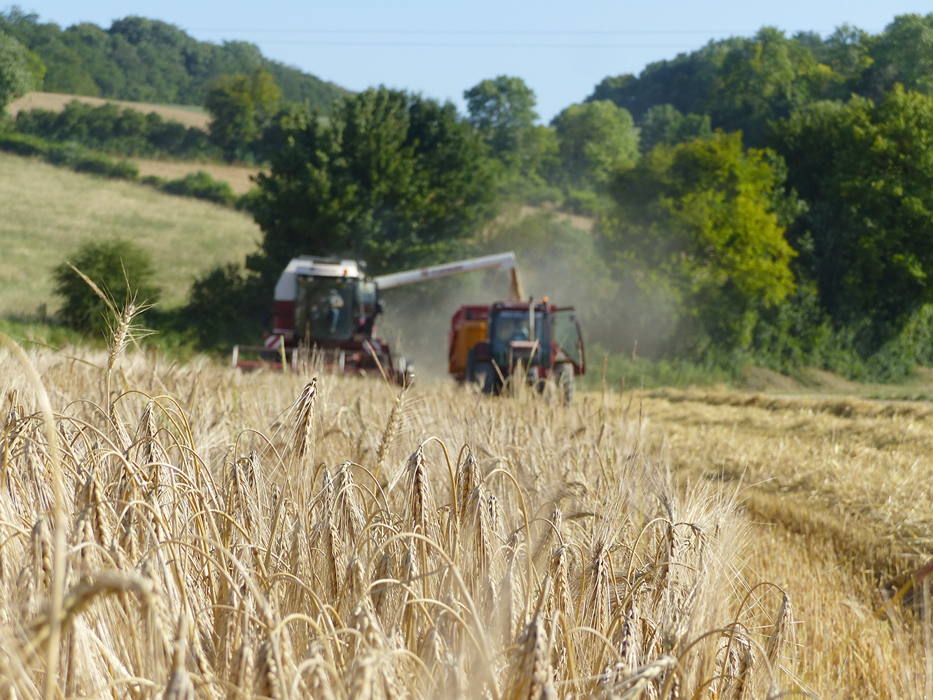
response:
[[[768,407],[741,399],[644,401],[648,418],[663,422],[665,453],[678,467],[859,515],[905,556],[933,544],[933,416],[926,406],[872,405],[841,417],[814,411],[810,400]]]

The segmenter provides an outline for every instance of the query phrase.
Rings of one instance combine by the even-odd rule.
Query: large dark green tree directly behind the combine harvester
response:
[[[275,133],[253,204],[251,267],[268,281],[297,254],[355,255],[373,274],[443,261],[493,212],[485,148],[453,104],[369,89]]]

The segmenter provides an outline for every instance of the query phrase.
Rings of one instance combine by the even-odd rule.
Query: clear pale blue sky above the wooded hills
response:
[[[770,25],[788,35],[826,36],[843,23],[878,34],[900,14],[928,3],[867,0],[784,2],[610,2],[473,0],[21,0],[41,21],[62,27],[140,15],[170,22],[203,41],[249,41],[276,61],[348,89],[409,89],[463,109],[463,91],[495,75],[518,75],[535,90],[548,122],[606,75],[638,75],[710,39],[748,36]],[[4,4],[0,7],[8,7]]]

